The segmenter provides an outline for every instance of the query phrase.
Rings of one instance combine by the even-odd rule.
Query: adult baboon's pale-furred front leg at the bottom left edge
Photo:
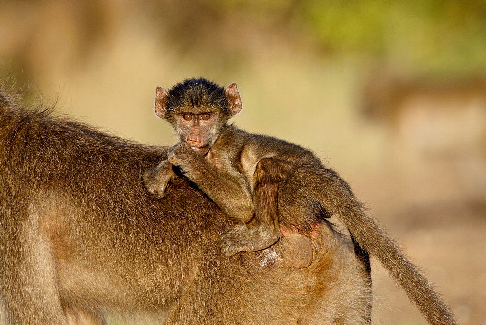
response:
[[[0,285],[6,322],[66,324],[54,260],[26,198],[0,199]]]

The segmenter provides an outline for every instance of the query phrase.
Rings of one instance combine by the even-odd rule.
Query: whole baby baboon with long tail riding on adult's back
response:
[[[276,243],[282,230],[310,235],[319,216],[336,215],[357,244],[376,256],[432,324],[454,317],[417,266],[401,252],[364,204],[334,171],[309,150],[274,137],[245,132],[228,119],[242,101],[235,83],[226,89],[206,79],[186,79],[169,91],[157,87],[155,112],[174,127],[179,142],[143,175],[152,194],[163,196],[177,166],[237,225],[220,239],[226,255],[258,251]],[[254,172],[265,158],[288,165],[278,186],[278,213],[254,204]],[[271,168],[270,168],[271,169]],[[282,227],[282,228],[280,228]],[[297,237],[296,245],[305,236]]]

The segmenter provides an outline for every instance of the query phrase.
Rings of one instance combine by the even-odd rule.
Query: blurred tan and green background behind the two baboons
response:
[[[484,0],[0,2],[0,65],[66,113],[174,144],[156,86],[238,83],[238,126],[312,148],[465,324],[486,324]],[[425,324],[378,263],[379,324]]]

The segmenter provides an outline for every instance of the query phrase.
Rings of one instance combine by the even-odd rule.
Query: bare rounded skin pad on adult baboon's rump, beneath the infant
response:
[[[312,243],[305,235],[282,229],[279,253],[284,263],[295,268],[307,268],[314,258]]]

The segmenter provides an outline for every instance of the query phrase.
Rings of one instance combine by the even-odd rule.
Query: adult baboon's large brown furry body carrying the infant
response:
[[[348,237],[318,223],[303,269],[286,265],[284,242],[226,257],[217,242],[234,223],[185,178],[163,199],[144,190],[142,171],[167,150],[18,107],[0,90],[0,323],[103,323],[106,312],[368,322],[369,274]]]

